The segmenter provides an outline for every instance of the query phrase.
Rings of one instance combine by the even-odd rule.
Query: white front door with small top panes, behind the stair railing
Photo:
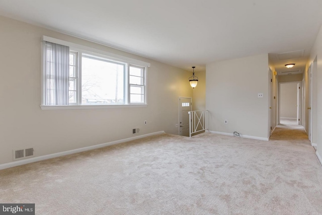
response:
[[[179,98],[179,135],[189,136],[189,114],[192,111],[191,98]]]

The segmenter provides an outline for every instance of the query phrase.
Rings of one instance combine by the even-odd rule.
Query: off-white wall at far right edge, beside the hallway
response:
[[[322,156],[322,26],[318,32],[314,45],[312,47],[310,58],[307,62],[306,68],[314,61],[315,57],[317,62],[315,62],[314,70],[316,73],[313,73],[313,106],[311,107],[313,125],[312,125],[312,138],[316,135],[316,140],[313,138],[313,143],[317,145],[317,156],[321,160]],[[308,79],[307,76],[305,76]],[[307,80],[306,80],[307,81]],[[308,87],[308,86],[307,86]],[[308,111],[306,115],[308,114]],[[314,121],[315,119],[315,121]]]

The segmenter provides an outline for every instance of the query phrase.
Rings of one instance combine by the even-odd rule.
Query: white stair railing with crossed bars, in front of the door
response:
[[[189,111],[189,137],[192,134],[206,130],[205,115],[207,110]]]

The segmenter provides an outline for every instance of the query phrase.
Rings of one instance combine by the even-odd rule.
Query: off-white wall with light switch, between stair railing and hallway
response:
[[[208,63],[206,77],[210,131],[268,138],[268,54]]]

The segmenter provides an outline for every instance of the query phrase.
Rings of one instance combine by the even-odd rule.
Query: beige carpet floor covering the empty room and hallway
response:
[[[0,203],[36,214],[322,214],[322,167],[301,126],[270,141],[160,134],[0,171]]]

